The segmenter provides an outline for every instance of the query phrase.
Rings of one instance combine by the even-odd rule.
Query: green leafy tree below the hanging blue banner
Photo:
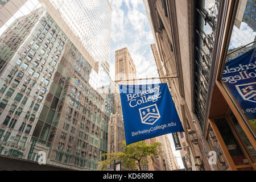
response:
[[[105,160],[99,162],[98,169],[105,170],[109,164],[113,164],[114,160],[121,161],[122,167],[129,170],[135,170],[144,164],[147,164],[147,156],[156,156],[160,154],[159,147],[162,146],[159,142],[146,144],[146,142],[136,142],[126,145],[125,141],[122,141],[122,152],[106,153],[102,154]],[[152,161],[154,159],[151,157]]]

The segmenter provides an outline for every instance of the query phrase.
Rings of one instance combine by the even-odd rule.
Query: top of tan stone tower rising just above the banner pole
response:
[[[128,49],[115,51],[115,80],[132,80],[137,78],[137,71]],[[135,84],[135,81],[121,81],[119,84]]]

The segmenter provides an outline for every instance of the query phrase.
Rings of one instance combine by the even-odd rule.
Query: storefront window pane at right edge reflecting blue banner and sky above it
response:
[[[256,23],[254,1],[239,1],[221,82],[251,133],[256,134]],[[249,12],[247,14],[246,12]]]

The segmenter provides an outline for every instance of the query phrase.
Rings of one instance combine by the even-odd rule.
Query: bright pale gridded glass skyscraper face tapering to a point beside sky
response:
[[[108,0],[50,0],[95,61],[109,73],[111,15]]]

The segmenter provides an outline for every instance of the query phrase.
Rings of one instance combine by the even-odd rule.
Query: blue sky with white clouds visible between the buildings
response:
[[[137,78],[155,77],[158,73],[150,44],[154,44],[142,0],[109,0],[112,6],[112,41],[110,77],[114,80],[115,51],[127,47],[137,70]],[[158,75],[157,75],[158,76]],[[180,152],[175,150],[172,135],[167,135],[178,165],[184,168]]]

